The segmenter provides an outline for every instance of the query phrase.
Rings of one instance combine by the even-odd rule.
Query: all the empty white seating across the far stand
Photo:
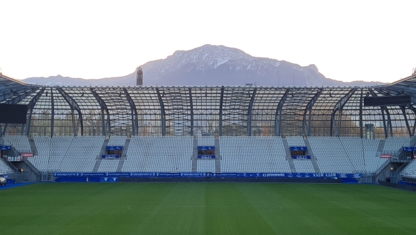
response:
[[[35,136],[38,154],[29,158],[40,171],[92,171],[105,137]],[[123,146],[125,136],[112,136],[107,145]],[[306,146],[300,136],[287,137],[289,146]],[[374,172],[384,162],[377,153],[380,140],[309,137],[311,151],[321,172]],[[26,136],[4,136],[18,151],[30,151]],[[222,172],[291,172],[280,137],[221,136]],[[388,138],[383,151],[399,151],[410,138]],[[198,138],[198,145],[213,146],[213,137]],[[191,171],[192,137],[140,137],[130,140],[122,171]],[[197,171],[214,171],[214,160],[198,160]],[[293,160],[297,172],[314,172],[310,160]],[[119,160],[103,160],[98,171],[115,171]],[[410,168],[409,168],[410,169]],[[406,171],[405,171],[406,173]]]

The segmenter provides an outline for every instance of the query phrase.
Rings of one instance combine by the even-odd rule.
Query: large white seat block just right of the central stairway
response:
[[[291,172],[280,137],[220,136],[220,153],[222,172]]]

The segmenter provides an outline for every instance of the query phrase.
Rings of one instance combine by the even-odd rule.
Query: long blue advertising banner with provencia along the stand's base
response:
[[[361,173],[196,173],[196,172],[56,172],[53,177],[125,178],[361,178]]]

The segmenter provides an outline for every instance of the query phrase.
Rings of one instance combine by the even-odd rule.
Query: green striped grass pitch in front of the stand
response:
[[[39,183],[0,190],[0,234],[416,234],[376,185]]]

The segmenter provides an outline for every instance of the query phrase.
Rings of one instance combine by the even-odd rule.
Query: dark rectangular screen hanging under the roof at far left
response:
[[[27,112],[27,105],[0,104],[0,123],[25,124]]]

